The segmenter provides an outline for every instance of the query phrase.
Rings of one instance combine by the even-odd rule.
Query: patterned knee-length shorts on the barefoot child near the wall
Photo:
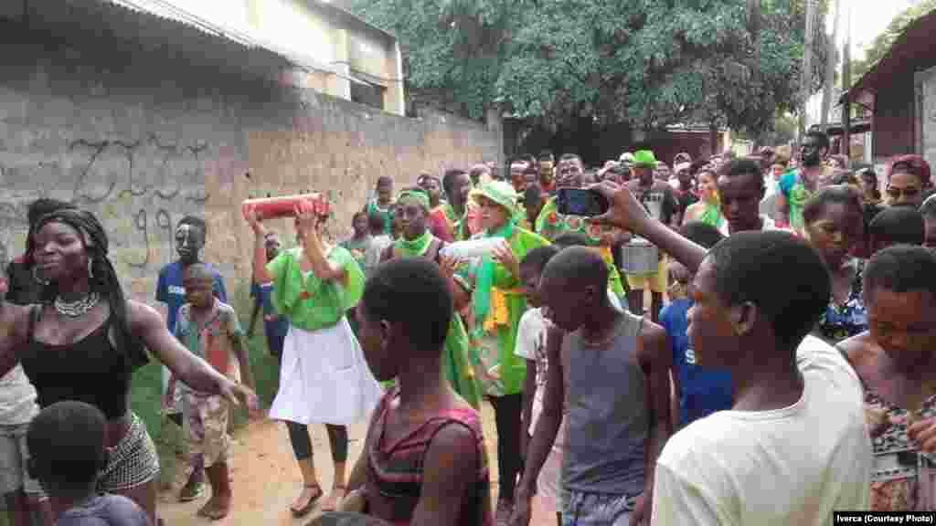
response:
[[[230,440],[227,420],[230,402],[219,395],[189,394],[188,439],[189,454],[195,460],[204,459],[204,466],[227,461]]]

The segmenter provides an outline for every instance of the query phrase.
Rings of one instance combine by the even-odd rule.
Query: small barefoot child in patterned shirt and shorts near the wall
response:
[[[185,269],[183,285],[187,302],[179,309],[175,336],[189,351],[205,359],[218,372],[238,381],[243,371],[246,384],[254,388],[247,349],[243,345],[243,330],[237,314],[227,303],[212,294],[212,273],[203,264]],[[231,362],[237,358],[240,367]],[[175,375],[169,380],[170,396],[176,386]],[[190,391],[189,451],[192,458],[202,459],[212,498],[197,511],[199,517],[224,519],[230,511],[231,487],[227,457],[230,440],[227,419],[230,402],[219,395]],[[199,469],[201,466],[193,466]]]

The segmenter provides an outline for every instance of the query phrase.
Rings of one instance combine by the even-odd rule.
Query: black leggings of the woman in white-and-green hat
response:
[[[522,393],[490,397],[497,425],[497,475],[500,492],[498,500],[514,501],[514,487],[523,466],[520,459],[520,416],[523,411]]]

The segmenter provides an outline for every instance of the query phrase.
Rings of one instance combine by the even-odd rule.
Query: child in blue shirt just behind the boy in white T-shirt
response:
[[[680,228],[680,234],[705,248],[711,248],[724,239],[717,228],[701,221],[686,223]],[[687,314],[693,306],[688,294],[693,276],[676,261],[670,262],[669,272],[671,301],[660,311],[660,325],[673,342],[672,374],[676,399],[672,415],[679,418],[673,427],[681,429],[698,418],[731,409],[733,399],[730,373],[695,364],[695,352],[686,332],[689,328]]]

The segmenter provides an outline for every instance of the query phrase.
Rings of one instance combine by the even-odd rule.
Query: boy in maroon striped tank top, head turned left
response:
[[[358,337],[377,380],[397,378],[373,413],[345,511],[395,525],[489,526],[490,475],[481,417],[448,385],[442,347],[453,312],[431,261],[378,267],[358,304]]]

